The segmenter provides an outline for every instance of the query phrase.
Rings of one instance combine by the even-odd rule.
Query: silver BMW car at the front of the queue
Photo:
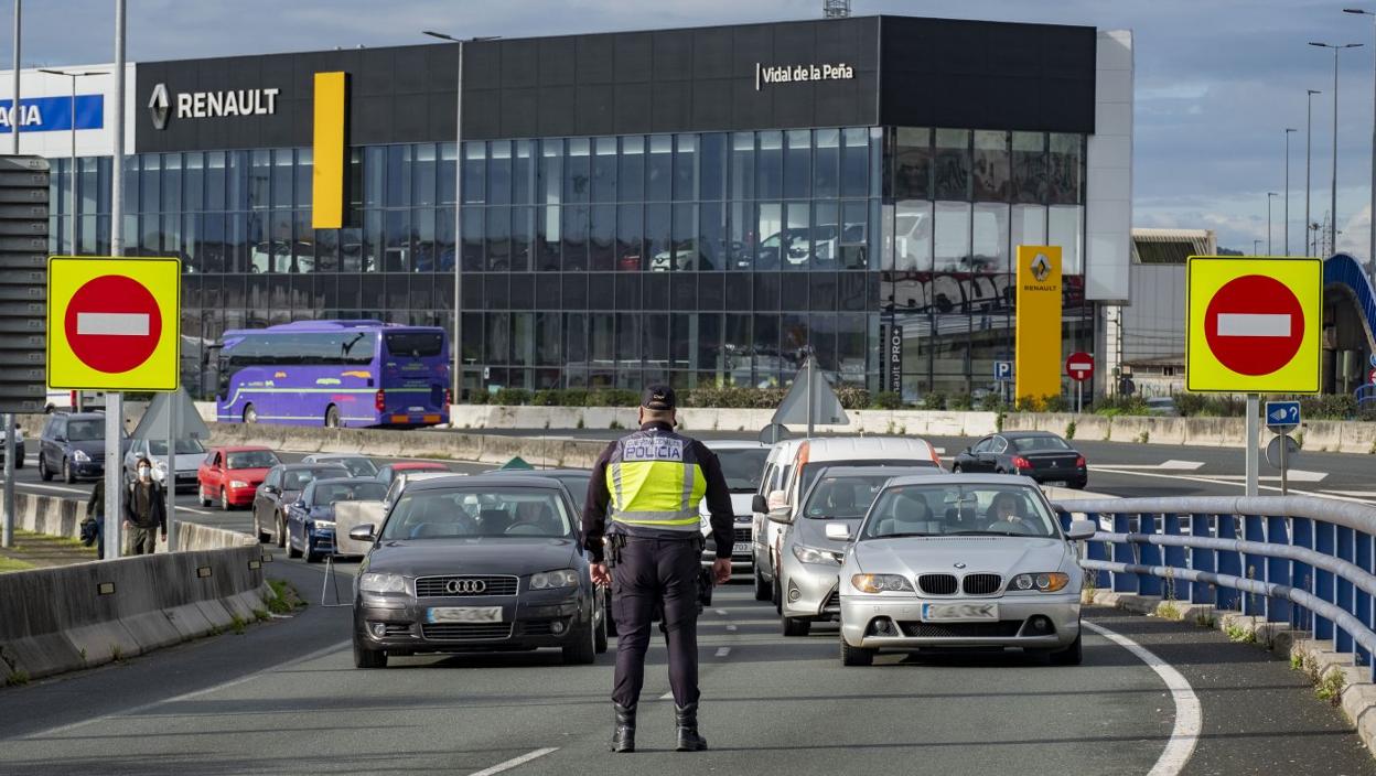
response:
[[[890,480],[841,565],[841,662],[881,649],[1021,647],[1080,663],[1076,539],[1036,483],[1009,475]]]

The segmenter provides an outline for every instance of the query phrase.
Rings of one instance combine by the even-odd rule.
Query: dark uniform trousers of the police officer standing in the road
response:
[[[669,685],[680,707],[698,703],[698,574],[702,545],[684,538],[626,537],[611,570],[616,618],[616,687],[612,700],[636,706],[645,684],[645,651],[656,601],[663,601]]]

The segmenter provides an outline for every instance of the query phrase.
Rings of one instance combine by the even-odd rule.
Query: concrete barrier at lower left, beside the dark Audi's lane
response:
[[[261,550],[179,552],[0,575],[0,682],[99,666],[250,622]]]

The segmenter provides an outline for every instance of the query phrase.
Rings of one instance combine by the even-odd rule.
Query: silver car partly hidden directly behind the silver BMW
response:
[[[813,622],[841,616],[837,590],[841,560],[885,483],[893,477],[943,473],[936,466],[831,466],[808,488],[797,517],[782,513],[771,517],[779,523],[793,520],[779,553],[784,636],[806,636]]]

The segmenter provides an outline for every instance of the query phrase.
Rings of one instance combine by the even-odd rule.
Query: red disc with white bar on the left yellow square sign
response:
[[[67,303],[67,344],[96,371],[118,374],[149,360],[162,336],[162,312],[143,283],[124,275],[87,281]]]

